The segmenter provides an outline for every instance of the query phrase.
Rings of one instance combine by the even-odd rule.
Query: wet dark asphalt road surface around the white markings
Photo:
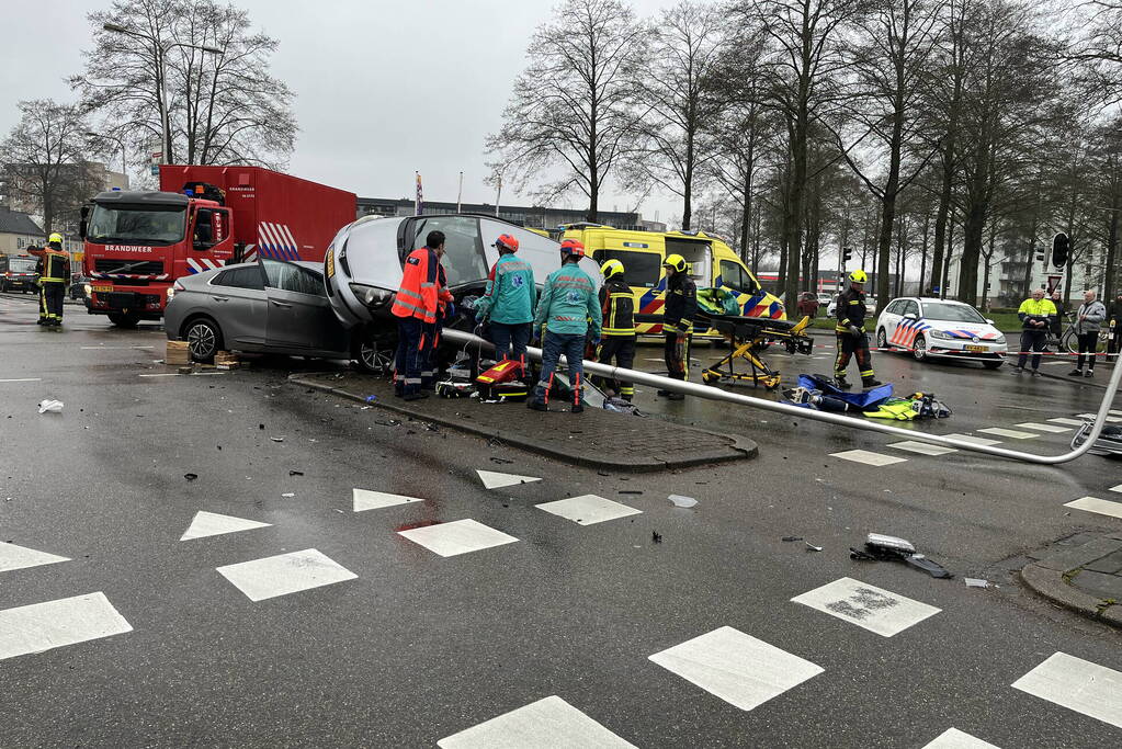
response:
[[[33,379],[0,382],[0,542],[71,560],[0,573],[0,610],[100,591],[132,631],[0,659],[3,746],[433,746],[550,695],[640,747],[922,747],[949,728],[1006,748],[1122,737],[1010,687],[1056,651],[1122,671],[1118,630],[1010,574],[1054,539],[1122,528],[1063,507],[1122,482],[1118,463],[931,457],[884,435],[641,392],[668,418],[751,436],[760,457],[605,477],[286,383],[322,362],[140,377],[174,373],[153,362],[157,326],[67,314],[65,332],[43,331],[34,305],[0,295],[0,380]],[[771,361],[828,372],[831,352],[816,353],[827,359]],[[659,355],[644,346],[640,363],[657,369],[642,360]],[[1103,392],[899,355],[875,363],[901,389],[946,399],[953,418],[911,427],[940,433],[1072,416]],[[62,415],[36,413],[48,397],[65,401]],[[1003,444],[1063,452],[1069,438]],[[829,455],[852,449],[908,460]],[[476,469],[543,480],[488,491]],[[352,488],[426,501],[352,512]],[[580,526],[533,507],[587,493],[642,515]],[[675,509],[669,493],[700,503]],[[178,540],[200,510],[270,526]],[[394,533],[463,518],[518,542],[445,558]],[[871,530],[910,538],[959,577],[852,561]],[[824,551],[781,540],[791,535]],[[357,577],[254,602],[215,571],[310,548]],[[967,589],[962,575],[1000,588]],[[885,638],[790,601],[846,576],[940,611]],[[742,711],[649,660],[726,626],[825,671]]]

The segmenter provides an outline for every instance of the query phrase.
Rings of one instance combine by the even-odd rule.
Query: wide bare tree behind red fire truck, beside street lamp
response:
[[[93,49],[71,85],[131,146],[135,163],[163,136],[162,105],[173,163],[286,163],[297,130],[293,94],[269,74],[277,41],[252,31],[246,11],[214,0],[114,0],[88,18]]]

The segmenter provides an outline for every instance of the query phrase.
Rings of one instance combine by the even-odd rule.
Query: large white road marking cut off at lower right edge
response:
[[[1122,728],[1122,673],[1113,668],[1055,653],[1012,686]]]

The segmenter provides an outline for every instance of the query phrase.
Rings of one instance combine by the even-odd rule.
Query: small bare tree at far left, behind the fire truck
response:
[[[72,213],[89,195],[86,123],[75,104],[40,99],[19,103],[20,120],[0,144],[4,192],[43,215],[43,228]]]

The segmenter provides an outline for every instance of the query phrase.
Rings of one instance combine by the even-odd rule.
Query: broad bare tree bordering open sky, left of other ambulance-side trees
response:
[[[578,191],[588,220],[599,214],[605,181],[636,132],[632,82],[643,35],[620,0],[565,0],[530,41],[530,64],[514,83],[503,127],[487,151],[519,188],[534,183],[548,202]],[[557,170],[557,179],[540,183]]]

